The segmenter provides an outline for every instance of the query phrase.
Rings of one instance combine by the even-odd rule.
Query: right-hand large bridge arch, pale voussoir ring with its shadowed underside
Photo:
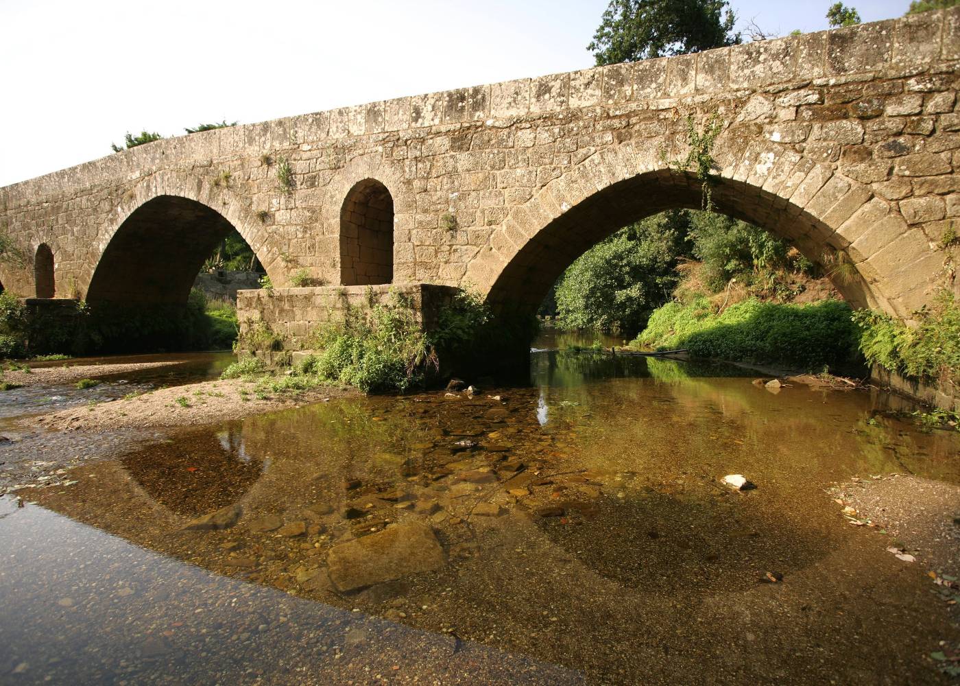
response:
[[[487,292],[493,305],[532,309],[574,259],[611,233],[665,209],[700,208],[701,184],[664,162],[662,151],[670,149],[668,138],[624,143],[546,184],[492,233],[464,282]],[[786,238],[815,261],[825,250],[844,252],[857,276],[835,284],[852,305],[906,317],[911,295],[925,302],[938,256],[869,186],[774,142],[744,146],[721,136],[714,157],[715,210]],[[904,281],[910,266],[915,274]]]

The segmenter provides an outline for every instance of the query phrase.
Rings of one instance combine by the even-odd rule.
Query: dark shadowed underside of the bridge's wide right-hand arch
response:
[[[713,211],[754,224],[783,238],[804,257],[822,263],[832,248],[832,230],[804,209],[752,184],[718,180],[712,188]],[[533,314],[551,285],[573,261],[612,233],[668,209],[700,209],[700,184],[687,174],[662,169],[611,184],[533,233],[516,249],[492,283],[492,306]],[[832,280],[853,306],[872,301],[870,286],[859,275]]]

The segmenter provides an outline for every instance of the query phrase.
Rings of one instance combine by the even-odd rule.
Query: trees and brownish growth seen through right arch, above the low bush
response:
[[[810,260],[751,224],[713,212],[671,210],[588,250],[561,277],[554,298],[562,328],[634,335],[673,298],[716,295],[730,305],[756,296],[785,303],[822,288],[817,275]],[[823,290],[822,297],[831,295]]]

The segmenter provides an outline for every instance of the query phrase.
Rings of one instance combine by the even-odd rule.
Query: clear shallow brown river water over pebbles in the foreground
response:
[[[0,682],[946,683],[955,616],[830,489],[958,483],[960,433],[756,376],[539,350],[84,464],[0,499]]]

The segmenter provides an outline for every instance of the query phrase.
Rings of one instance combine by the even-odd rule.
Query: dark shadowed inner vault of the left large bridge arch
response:
[[[113,233],[90,280],[86,300],[128,305],[185,303],[204,262],[233,225],[189,198],[159,195],[132,211]]]

